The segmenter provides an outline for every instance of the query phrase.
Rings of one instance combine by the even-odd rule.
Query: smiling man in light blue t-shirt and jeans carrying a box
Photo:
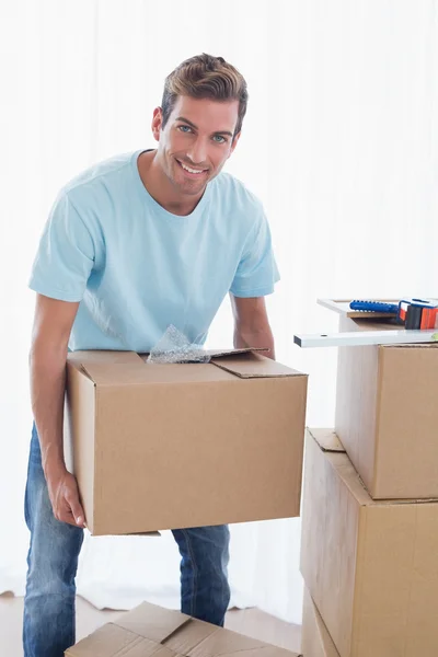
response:
[[[62,657],[74,643],[74,578],[87,519],[62,451],[68,350],[150,351],[171,324],[204,343],[229,293],[235,347],[266,347],[274,358],[264,302],[278,280],[269,228],[256,197],[221,173],[246,102],[244,79],[221,57],[184,61],[166,78],[153,113],[157,149],[87,170],[51,209],[30,281],[37,295],[25,657]],[[182,556],[182,611],[222,625],[228,527],[173,535]]]

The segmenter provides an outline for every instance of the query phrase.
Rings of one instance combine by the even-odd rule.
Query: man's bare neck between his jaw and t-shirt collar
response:
[[[185,199],[175,192],[172,183],[157,162],[155,150],[141,153],[137,166],[142,184],[152,198],[168,212],[185,217],[193,212],[201,199],[201,196]]]

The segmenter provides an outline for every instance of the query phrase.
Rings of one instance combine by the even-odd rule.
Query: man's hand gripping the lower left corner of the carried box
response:
[[[56,474],[50,473],[46,479],[55,518],[82,529],[87,527],[76,477],[65,469]]]

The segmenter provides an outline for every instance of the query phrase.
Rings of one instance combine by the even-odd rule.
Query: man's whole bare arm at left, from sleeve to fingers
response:
[[[79,303],[37,295],[30,353],[32,410],[57,520],[84,527],[76,479],[64,460],[64,399],[68,341]]]

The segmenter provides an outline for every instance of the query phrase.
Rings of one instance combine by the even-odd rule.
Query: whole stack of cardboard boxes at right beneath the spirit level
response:
[[[306,441],[306,657],[333,652],[312,625],[341,657],[438,655],[437,393],[434,345],[339,349],[335,431]]]

